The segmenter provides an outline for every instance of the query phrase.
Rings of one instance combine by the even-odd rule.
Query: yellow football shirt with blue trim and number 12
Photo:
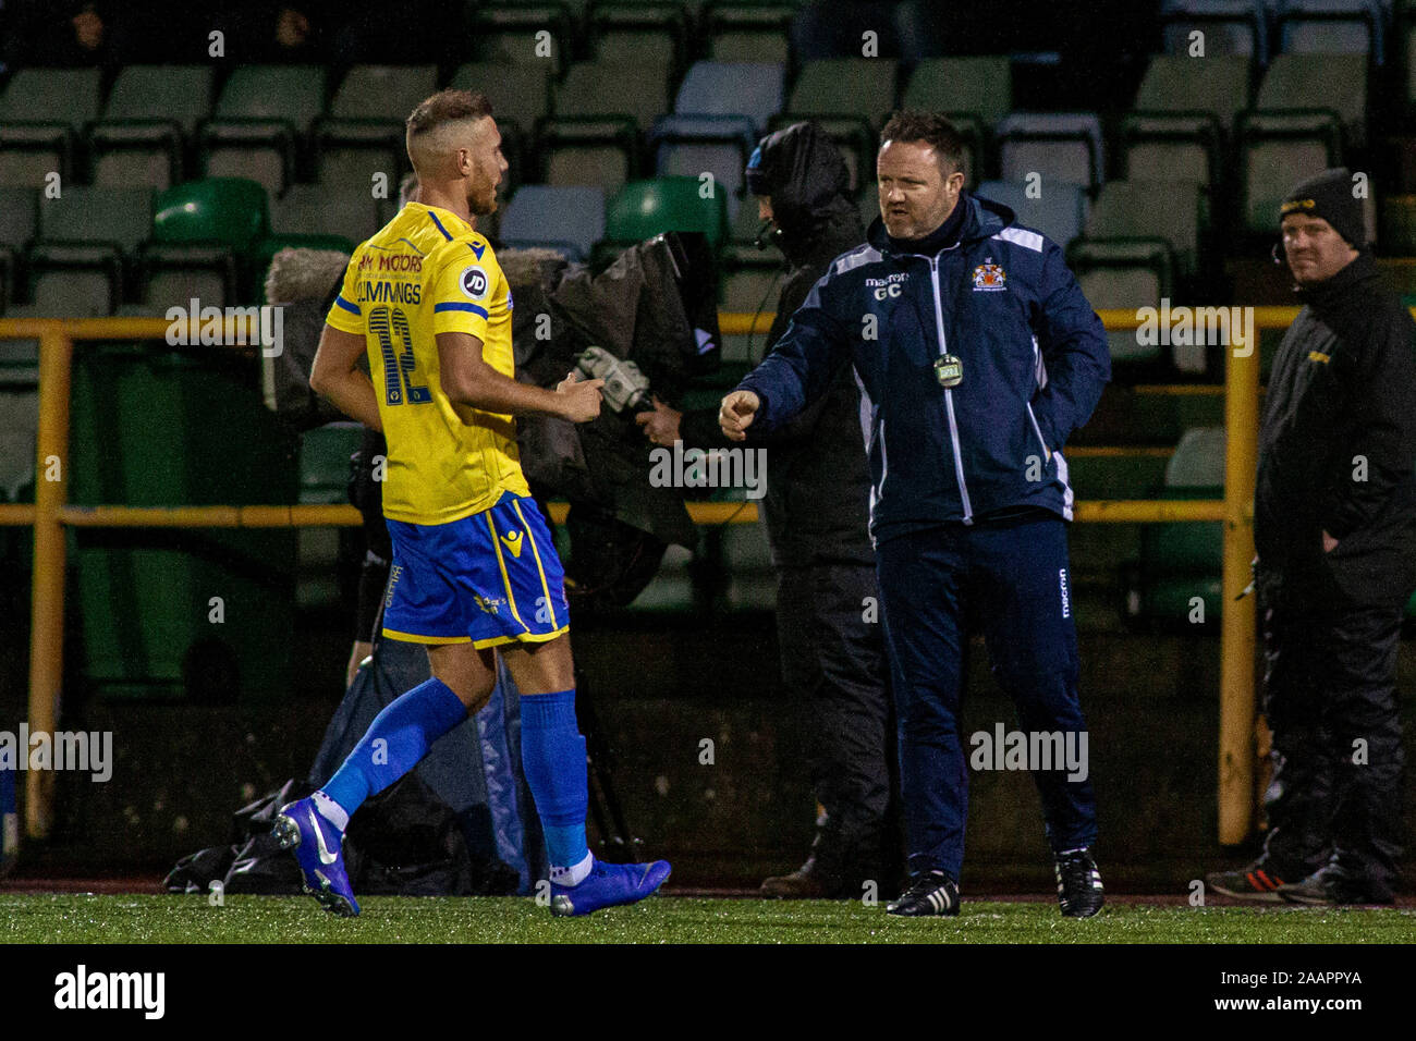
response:
[[[362,336],[388,438],[384,516],[447,524],[530,496],[510,415],[463,409],[439,382],[438,333],[469,333],[514,377],[511,288],[491,245],[456,214],[409,203],[354,251],[329,324]]]

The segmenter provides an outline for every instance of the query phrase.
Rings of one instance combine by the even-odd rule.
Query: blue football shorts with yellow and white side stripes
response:
[[[384,636],[412,643],[554,640],[569,629],[565,571],[535,500],[507,493],[449,524],[388,521]]]

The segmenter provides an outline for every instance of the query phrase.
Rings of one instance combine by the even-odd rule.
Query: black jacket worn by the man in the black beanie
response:
[[[1369,251],[1301,289],[1259,431],[1259,579],[1311,605],[1416,588],[1416,323]],[[1323,551],[1323,533],[1338,540]]]

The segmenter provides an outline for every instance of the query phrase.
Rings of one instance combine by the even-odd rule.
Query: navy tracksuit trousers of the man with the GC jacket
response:
[[[966,619],[981,626],[993,673],[1025,734],[1086,729],[1066,525],[1042,514],[943,524],[881,542],[877,569],[910,871],[939,870],[957,881],[969,809],[967,738],[959,722]],[[1090,780],[1068,780],[1066,769],[1032,776],[1052,850],[1092,846]]]

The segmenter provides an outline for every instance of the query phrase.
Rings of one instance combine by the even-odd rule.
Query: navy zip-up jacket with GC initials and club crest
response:
[[[1110,378],[1100,319],[1062,249],[1008,207],[964,193],[956,245],[896,252],[879,218],[843,254],[739,384],[767,433],[828,387],[847,357],[861,385],[871,537],[1044,508],[1072,520],[1061,449]],[[959,358],[940,384],[935,360]]]

